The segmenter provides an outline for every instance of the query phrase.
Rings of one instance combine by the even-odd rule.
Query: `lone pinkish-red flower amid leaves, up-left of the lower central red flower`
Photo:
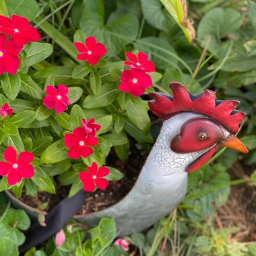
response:
[[[69,88],[59,84],[58,90],[54,86],[47,86],[45,92],[48,96],[45,96],[42,101],[44,106],[50,109],[55,108],[58,114],[67,110],[67,105],[70,104],[70,100],[67,97]]]

